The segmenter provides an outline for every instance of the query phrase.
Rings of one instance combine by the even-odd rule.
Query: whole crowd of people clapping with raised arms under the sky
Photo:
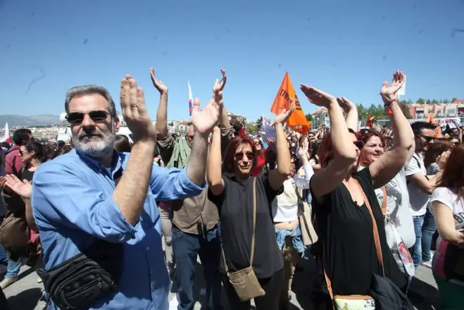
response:
[[[0,156],[1,289],[27,264],[49,309],[165,310],[175,281],[177,309],[192,310],[199,258],[206,309],[223,309],[222,291],[230,309],[251,299],[258,310],[290,309],[304,263],[313,309],[413,309],[408,289],[422,263],[443,309],[462,309],[462,132],[441,138],[436,124],[410,125],[400,70],[380,89],[389,128],[358,128],[349,99],[301,85],[330,128],[291,130],[289,100],[266,139],[230,122],[221,73],[208,104],[194,100],[185,137],[168,130],[168,87],[154,70],[156,128],[143,89],[121,80],[132,141],[115,134],[115,103],[96,85],[66,94],[69,142],[15,130]]]

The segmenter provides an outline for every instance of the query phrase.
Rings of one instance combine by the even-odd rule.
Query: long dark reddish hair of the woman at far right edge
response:
[[[460,199],[464,199],[464,144],[451,151],[437,187],[449,188]]]

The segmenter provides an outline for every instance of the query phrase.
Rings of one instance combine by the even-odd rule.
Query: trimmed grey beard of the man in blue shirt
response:
[[[106,132],[99,128],[83,129],[82,132],[73,135],[73,145],[87,156],[101,158],[113,152],[115,132],[115,126],[111,126],[111,131]]]

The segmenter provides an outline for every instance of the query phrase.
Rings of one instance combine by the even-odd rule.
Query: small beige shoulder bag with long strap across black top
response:
[[[253,236],[251,237],[251,256],[250,266],[242,270],[229,272],[227,262],[225,261],[224,249],[222,249],[222,259],[224,259],[224,268],[229,278],[230,284],[234,287],[235,292],[242,302],[247,302],[255,297],[260,297],[265,294],[263,288],[256,278],[253,271],[253,256],[255,254],[255,228],[256,228],[256,178],[253,178]]]

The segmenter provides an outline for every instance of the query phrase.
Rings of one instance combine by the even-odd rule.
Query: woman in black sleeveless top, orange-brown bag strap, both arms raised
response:
[[[306,97],[313,104],[327,108],[330,116],[331,133],[324,138],[319,150],[322,170],[311,179],[311,194],[324,245],[318,256],[324,258],[334,295],[368,295],[372,273],[382,274],[372,233],[372,216],[363,192],[377,223],[384,275],[398,287],[406,285],[387,246],[384,218],[374,192],[375,188],[385,185],[400,171],[412,145],[408,120],[396,102],[396,92],[403,81],[403,73],[396,71],[394,82],[390,86],[385,82],[380,91],[386,109],[392,111],[389,114],[394,128],[394,148],[359,172],[356,168],[361,145],[354,128],[347,128],[337,99],[313,87],[301,85]]]

